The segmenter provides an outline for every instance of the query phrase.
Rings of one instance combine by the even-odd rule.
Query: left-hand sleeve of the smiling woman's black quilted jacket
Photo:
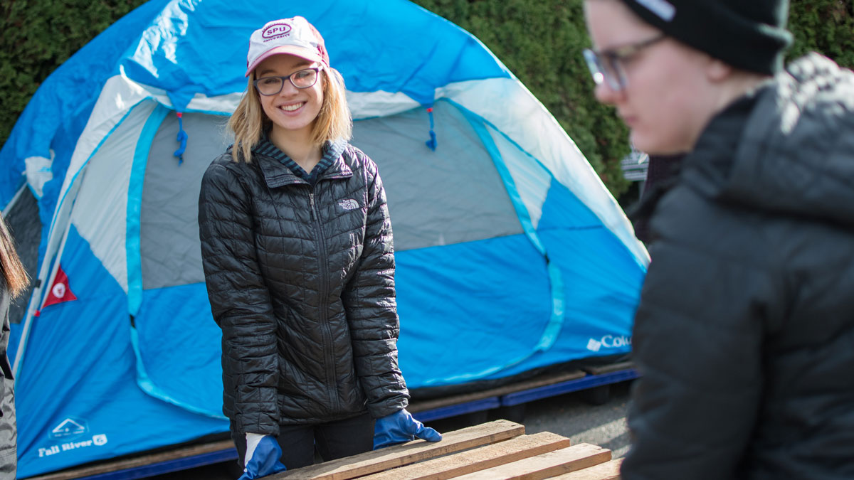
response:
[[[249,193],[225,165],[212,164],[202,178],[199,237],[208,299],[222,329],[224,396],[233,397],[226,414],[239,433],[278,435],[276,322],[254,246]]]

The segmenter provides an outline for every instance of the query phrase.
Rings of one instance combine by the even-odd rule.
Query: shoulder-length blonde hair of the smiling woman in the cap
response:
[[[323,145],[327,141],[349,140],[353,135],[353,120],[347,105],[344,78],[335,68],[323,67],[321,72],[319,80],[323,82],[323,102],[314,119],[312,143]],[[261,108],[254,80],[255,73],[250,72],[246,92],[228,120],[228,126],[234,132],[234,160],[247,163],[252,161],[252,147],[272,123]]]

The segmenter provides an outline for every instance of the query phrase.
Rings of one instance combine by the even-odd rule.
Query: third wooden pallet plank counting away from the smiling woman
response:
[[[476,471],[458,480],[542,480],[611,460],[611,450],[589,443],[555,450],[507,465]]]

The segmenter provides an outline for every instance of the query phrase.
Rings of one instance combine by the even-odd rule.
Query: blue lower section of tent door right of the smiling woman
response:
[[[398,350],[410,388],[505,375],[534,354],[551,292],[546,263],[524,235],[407,250],[395,260],[397,283],[410,287],[398,290]],[[487,352],[515,355],[496,365]]]

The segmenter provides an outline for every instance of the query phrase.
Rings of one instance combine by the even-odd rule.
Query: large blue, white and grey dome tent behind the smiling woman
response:
[[[11,345],[20,477],[228,430],[196,201],[249,33],[294,15],[383,175],[410,388],[629,351],[646,250],[477,38],[404,0],[151,0],[45,80],[0,151],[0,205],[38,237]]]

